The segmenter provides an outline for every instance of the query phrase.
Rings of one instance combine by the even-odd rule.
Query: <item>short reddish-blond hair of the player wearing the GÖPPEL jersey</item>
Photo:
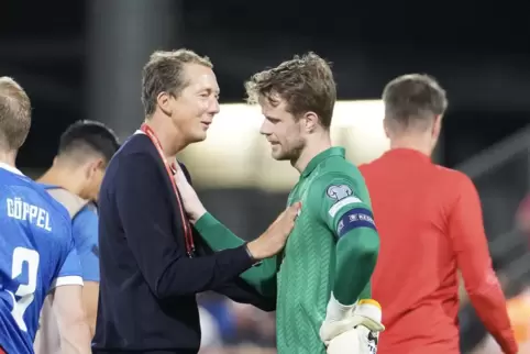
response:
[[[16,151],[31,126],[31,102],[24,89],[10,77],[0,77],[0,147]]]

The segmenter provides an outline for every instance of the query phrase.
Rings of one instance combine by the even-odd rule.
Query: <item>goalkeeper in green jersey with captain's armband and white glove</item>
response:
[[[287,204],[301,211],[284,252],[242,274],[264,296],[276,297],[280,354],[375,353],[382,311],[371,299],[379,237],[358,169],[332,147],[335,82],[313,53],[257,73],[246,82],[262,107],[261,133],[272,155],[300,173]],[[191,187],[177,182],[195,229],[216,251],[243,241],[208,213]],[[253,250],[250,248],[250,253]],[[334,343],[336,341],[336,343]],[[345,343],[345,344],[344,344]]]

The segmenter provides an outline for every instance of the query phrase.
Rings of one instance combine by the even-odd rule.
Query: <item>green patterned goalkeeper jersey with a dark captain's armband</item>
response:
[[[355,298],[347,300],[352,302],[358,296],[363,297],[360,290],[353,289],[352,281],[334,284],[338,272],[342,273],[342,278],[347,278],[353,274],[353,267],[361,267],[356,264],[358,258],[352,257],[353,252],[346,251],[349,253],[345,256],[341,255],[342,270],[338,270],[338,242],[360,229],[372,232],[368,234],[369,240],[375,234],[376,247],[378,237],[364,178],[345,159],[342,147],[331,147],[311,159],[292,188],[287,204],[297,201],[301,202],[301,211],[284,252],[266,259],[262,266],[246,270],[242,278],[254,285],[260,292],[277,296],[276,334],[279,354],[324,354],[325,346],[320,340],[319,329],[325,318],[331,292],[350,296],[349,292],[356,291]],[[216,251],[242,243],[210,214],[202,217],[196,229]],[[363,240],[363,235],[366,233],[344,239]],[[353,247],[362,248],[358,243],[353,243]],[[360,289],[367,285],[368,292],[364,298],[369,298],[373,265],[366,277],[361,279]]]

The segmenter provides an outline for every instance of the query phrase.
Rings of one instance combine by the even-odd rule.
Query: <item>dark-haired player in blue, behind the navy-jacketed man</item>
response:
[[[96,201],[104,169],[118,148],[118,139],[108,126],[95,121],[78,121],[62,134],[52,167],[38,179],[71,218],[85,284],[82,300],[91,335],[96,329],[99,294]],[[49,301],[44,302],[34,347],[37,354],[60,353],[60,339]]]

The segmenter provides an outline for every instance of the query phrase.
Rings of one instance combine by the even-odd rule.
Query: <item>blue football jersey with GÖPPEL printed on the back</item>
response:
[[[0,164],[0,346],[33,353],[46,295],[82,285],[64,207],[18,169]]]

